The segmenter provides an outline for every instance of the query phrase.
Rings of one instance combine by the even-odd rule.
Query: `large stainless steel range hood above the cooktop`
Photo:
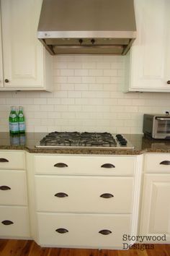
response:
[[[50,54],[125,55],[135,40],[133,0],[43,0],[37,37]]]

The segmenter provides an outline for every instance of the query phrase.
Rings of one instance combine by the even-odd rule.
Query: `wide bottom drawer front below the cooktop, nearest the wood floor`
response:
[[[123,234],[130,234],[128,215],[37,213],[37,219],[39,243],[48,246],[122,249]]]

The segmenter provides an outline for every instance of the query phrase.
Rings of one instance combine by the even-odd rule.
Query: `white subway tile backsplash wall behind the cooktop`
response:
[[[122,93],[124,56],[55,56],[54,91],[0,92],[0,132],[23,106],[27,132],[142,133],[144,113],[170,110],[170,93]]]

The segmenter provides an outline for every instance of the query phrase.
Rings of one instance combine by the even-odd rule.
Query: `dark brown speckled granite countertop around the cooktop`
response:
[[[170,140],[153,140],[143,135],[125,135],[135,145],[133,150],[86,149],[86,148],[35,148],[37,142],[47,133],[27,132],[25,135],[9,135],[0,132],[0,150],[27,150],[30,153],[96,154],[96,155],[140,155],[142,153],[170,153]]]

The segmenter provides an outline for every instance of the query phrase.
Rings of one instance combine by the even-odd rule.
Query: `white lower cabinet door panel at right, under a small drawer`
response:
[[[143,187],[143,213],[140,224],[140,232],[143,235],[166,234],[166,241],[170,241],[169,202],[170,175],[146,174]]]

